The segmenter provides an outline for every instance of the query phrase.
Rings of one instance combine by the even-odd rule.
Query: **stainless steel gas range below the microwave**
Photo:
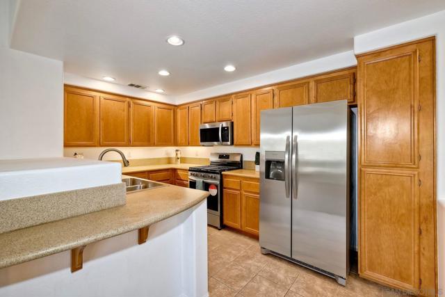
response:
[[[243,155],[239,153],[210,154],[210,165],[188,169],[188,187],[209,191],[207,198],[207,224],[223,227],[223,175],[227,170],[243,168]]]

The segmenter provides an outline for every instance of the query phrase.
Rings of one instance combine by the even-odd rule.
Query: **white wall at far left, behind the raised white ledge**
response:
[[[63,63],[9,48],[0,1],[0,159],[63,155]]]

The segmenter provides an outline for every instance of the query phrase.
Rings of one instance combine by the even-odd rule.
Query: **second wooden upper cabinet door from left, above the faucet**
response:
[[[127,146],[129,136],[129,99],[113,95],[100,97],[100,145]]]

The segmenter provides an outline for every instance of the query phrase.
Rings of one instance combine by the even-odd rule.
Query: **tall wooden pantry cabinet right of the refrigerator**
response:
[[[435,296],[435,40],[357,56],[359,275]]]

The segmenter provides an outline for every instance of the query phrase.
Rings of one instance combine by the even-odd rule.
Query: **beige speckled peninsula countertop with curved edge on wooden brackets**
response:
[[[170,218],[209,192],[163,186],[127,194],[127,204],[0,234],[0,268],[71,250]]]

